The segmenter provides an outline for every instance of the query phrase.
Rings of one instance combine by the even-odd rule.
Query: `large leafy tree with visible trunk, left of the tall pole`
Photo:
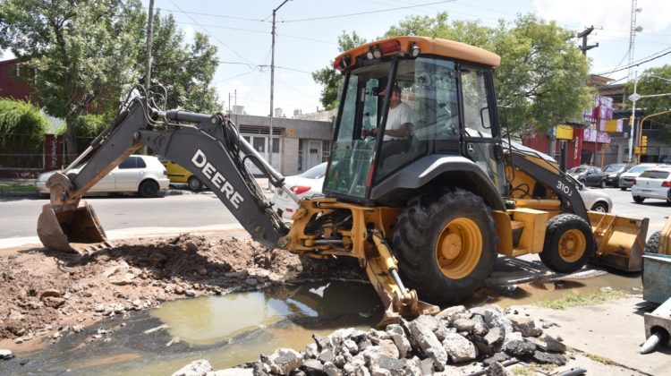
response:
[[[146,15],[139,0],[4,0],[0,45],[35,69],[30,81],[50,115],[64,118],[77,155],[77,119],[115,107],[137,72]]]

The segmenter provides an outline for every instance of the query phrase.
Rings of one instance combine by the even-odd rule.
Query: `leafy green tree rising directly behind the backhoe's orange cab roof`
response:
[[[501,56],[495,75],[499,105],[510,107],[512,131],[535,128],[547,132],[565,121],[582,120],[590,107],[588,62],[574,46],[571,32],[532,14],[519,15],[511,24],[488,27],[479,21],[448,22],[436,17],[412,16],[392,26],[386,37],[421,35],[446,38],[482,47]]]

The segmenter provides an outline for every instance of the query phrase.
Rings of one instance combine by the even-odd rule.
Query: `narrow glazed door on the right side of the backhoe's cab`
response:
[[[463,156],[482,168],[505,196],[507,183],[491,70],[461,66],[459,71]]]

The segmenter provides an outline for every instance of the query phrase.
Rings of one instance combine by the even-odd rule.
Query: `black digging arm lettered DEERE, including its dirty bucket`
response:
[[[143,145],[196,175],[260,244],[276,247],[278,240],[288,233],[272,203],[244,166],[244,159],[251,159],[278,187],[284,187],[284,178],[260,158],[230,119],[220,114],[163,112],[140,97],[133,98],[91,143],[85,155],[77,158],[80,161],[89,154],[77,175],[66,175],[71,165],[64,173],[49,178],[51,203],[43,208],[38,220],[42,243],[49,248],[76,251],[72,243],[86,247],[106,242],[95,213],[85,203],[80,205],[81,196]]]

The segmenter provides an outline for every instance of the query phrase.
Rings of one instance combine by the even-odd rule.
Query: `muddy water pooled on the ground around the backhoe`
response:
[[[588,295],[604,286],[632,291],[641,287],[641,278],[607,274],[485,287],[465,304],[531,304],[568,294]],[[208,359],[217,370],[257,360],[259,354],[278,347],[302,350],[312,342],[312,333],[323,336],[347,327],[367,330],[381,316],[378,295],[362,283],[278,286],[183,299],[150,312],[104,320],[43,350],[18,354],[0,363],[0,374],[164,375],[198,359]],[[98,329],[111,333],[92,340]]]

